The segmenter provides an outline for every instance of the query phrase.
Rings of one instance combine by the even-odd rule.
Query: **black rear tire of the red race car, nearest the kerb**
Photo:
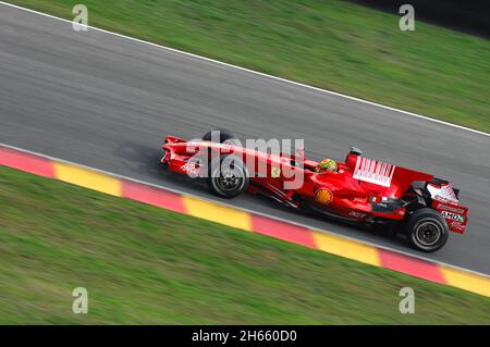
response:
[[[449,226],[439,212],[424,208],[408,216],[406,236],[413,248],[433,252],[448,241]]]

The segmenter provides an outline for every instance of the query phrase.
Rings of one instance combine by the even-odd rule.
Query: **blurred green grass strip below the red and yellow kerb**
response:
[[[490,321],[482,296],[3,166],[0,206],[2,324]]]

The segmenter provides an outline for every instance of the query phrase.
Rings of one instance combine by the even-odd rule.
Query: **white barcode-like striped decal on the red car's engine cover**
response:
[[[353,177],[355,179],[389,187],[391,185],[391,178],[393,177],[395,168],[395,165],[379,160],[357,157]]]

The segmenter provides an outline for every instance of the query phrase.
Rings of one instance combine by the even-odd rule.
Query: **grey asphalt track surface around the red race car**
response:
[[[0,4],[0,142],[215,199],[164,175],[166,134],[213,127],[241,138],[304,138],[307,157],[350,146],[450,178],[466,235],[436,253],[244,195],[234,206],[490,274],[490,137]]]

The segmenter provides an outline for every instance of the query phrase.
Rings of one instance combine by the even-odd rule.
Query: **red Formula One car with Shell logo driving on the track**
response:
[[[223,198],[248,191],[294,209],[405,232],[416,249],[431,252],[463,234],[468,209],[448,181],[362,156],[351,148],[345,162],[316,162],[295,154],[244,147],[233,134],[209,132],[199,140],[168,136],[161,162],[172,172],[205,178]]]

